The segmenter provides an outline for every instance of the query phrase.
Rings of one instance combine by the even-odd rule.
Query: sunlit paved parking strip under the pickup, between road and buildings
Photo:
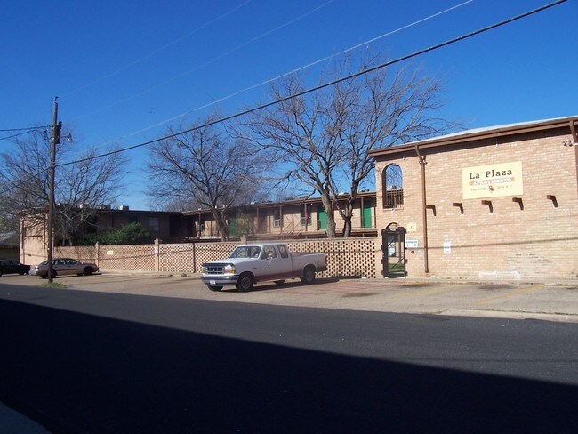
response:
[[[4,275],[0,286],[45,285],[35,276]],[[96,291],[156,297],[236,301],[325,309],[354,309],[429,315],[536,318],[578,322],[578,288],[556,284],[454,283],[418,279],[317,279],[314,285],[265,282],[250,293],[234,287],[212,292],[198,275],[123,274],[57,277],[67,291]]]

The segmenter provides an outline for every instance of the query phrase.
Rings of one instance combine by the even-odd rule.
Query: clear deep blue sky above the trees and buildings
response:
[[[79,149],[131,146],[162,135],[168,125],[204,117],[215,100],[224,99],[218,107],[226,115],[266,101],[267,85],[239,91],[378,36],[393,32],[358,50],[369,45],[396,59],[549,3],[4,2],[0,130],[49,125],[58,95],[59,118],[74,129]],[[413,63],[446,83],[440,116],[468,128],[578,115],[576,16],[577,0],[567,0]],[[307,69],[311,83],[326,64]],[[0,141],[0,150],[10,146]],[[142,192],[147,149],[127,157],[126,192],[122,204],[113,205],[154,208]]]

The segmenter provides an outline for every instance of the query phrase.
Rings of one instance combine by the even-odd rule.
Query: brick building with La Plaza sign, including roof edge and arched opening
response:
[[[578,278],[577,129],[565,117],[373,150],[386,274],[397,257],[408,277]]]

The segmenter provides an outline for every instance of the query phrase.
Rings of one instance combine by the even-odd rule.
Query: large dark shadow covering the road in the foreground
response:
[[[0,301],[0,398],[53,433],[570,432],[578,388]]]

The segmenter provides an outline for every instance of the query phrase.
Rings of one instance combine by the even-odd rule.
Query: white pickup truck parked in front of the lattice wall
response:
[[[212,291],[221,291],[224,285],[250,291],[261,280],[281,285],[287,278],[300,277],[304,284],[312,284],[316,271],[326,269],[325,253],[290,253],[283,243],[239,245],[228,259],[205,262],[201,280]]]

